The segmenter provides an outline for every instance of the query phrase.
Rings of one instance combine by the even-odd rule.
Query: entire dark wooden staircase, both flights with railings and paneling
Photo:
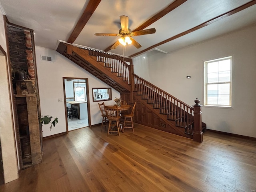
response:
[[[202,142],[206,124],[201,106],[193,108],[133,73],[131,58],[60,43],[57,52],[136,102],[134,122]]]

